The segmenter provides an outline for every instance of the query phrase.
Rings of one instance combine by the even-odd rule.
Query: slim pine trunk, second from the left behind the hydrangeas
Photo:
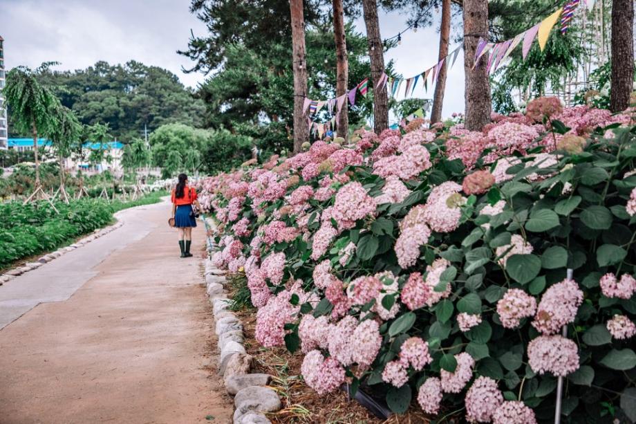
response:
[[[342,0],[333,0],[333,33],[336,42],[336,96],[346,94],[349,80],[349,60],[344,35],[344,11]],[[355,90],[355,87],[353,88]],[[347,139],[349,129],[348,100],[345,99],[337,118],[338,136]]]

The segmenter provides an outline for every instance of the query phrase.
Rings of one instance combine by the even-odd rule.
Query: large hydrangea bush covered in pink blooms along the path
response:
[[[527,113],[314,142],[205,180],[213,260],[245,273],[256,339],[431,420],[636,419],[632,111]],[[571,275],[568,275],[571,270]]]

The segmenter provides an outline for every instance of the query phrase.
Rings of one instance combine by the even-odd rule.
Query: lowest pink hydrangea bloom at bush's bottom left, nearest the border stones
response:
[[[318,394],[336,390],[345,379],[344,368],[334,358],[324,358],[320,351],[310,351],[303,359],[301,374]]]

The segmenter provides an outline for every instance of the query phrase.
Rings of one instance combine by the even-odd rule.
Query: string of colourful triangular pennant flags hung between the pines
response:
[[[592,10],[595,6],[596,0],[582,0],[586,3],[588,10]],[[479,59],[490,53],[490,56],[487,61],[487,72],[492,73],[496,71],[498,66],[505,63],[505,60],[512,51],[519,45],[523,44],[522,47],[522,57],[525,60],[528,53],[530,53],[530,48],[532,48],[532,44],[535,39],[539,40],[539,48],[541,51],[545,49],[545,45],[548,43],[548,38],[550,37],[550,33],[552,28],[560,23],[560,31],[561,34],[565,35],[567,33],[568,28],[570,27],[570,23],[572,21],[572,17],[574,15],[574,11],[577,10],[581,0],[568,0],[565,2],[565,5],[558,10],[556,10],[552,15],[543,19],[543,21],[539,22],[532,28],[525,30],[523,33],[516,35],[512,39],[508,39],[504,42],[500,43],[491,43],[487,40],[480,38],[477,44],[477,48],[475,51],[475,66],[477,65]],[[395,95],[400,93],[402,89],[402,85],[406,83],[404,86],[404,97],[413,96],[415,93],[415,88],[418,86],[418,82],[422,82],[422,88],[424,91],[428,92],[429,89],[429,78],[431,82],[431,86],[435,84],[436,80],[439,77],[440,71],[443,66],[449,66],[450,68],[456,62],[456,59],[459,55],[460,50],[462,50],[462,44],[457,46],[454,50],[451,51],[446,57],[440,59],[440,61],[423,71],[422,73],[418,73],[413,77],[404,78],[404,77],[391,77],[386,73],[382,73],[380,80],[375,84],[375,89],[382,89],[385,85],[387,86],[388,94],[395,98]],[[309,127],[309,132],[317,135],[319,138],[322,138],[328,131],[335,129],[337,120],[342,112],[342,107],[345,102],[348,100],[351,106],[355,106],[356,95],[359,93],[364,98],[366,98],[368,92],[368,84],[369,79],[364,78],[359,84],[357,84],[353,89],[346,91],[346,93],[339,95],[336,98],[331,98],[328,100],[312,100],[310,98],[305,98],[303,101],[303,113],[307,113],[309,111],[309,117],[307,118],[307,124]],[[311,119],[312,116],[317,116],[318,113],[326,107],[328,114],[332,116],[330,120],[327,122],[315,122]],[[335,114],[334,114],[335,111]],[[416,111],[419,115],[420,111]],[[409,118],[413,118],[410,117]]]

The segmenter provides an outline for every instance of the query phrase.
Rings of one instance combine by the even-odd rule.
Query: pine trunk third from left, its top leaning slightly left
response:
[[[371,82],[373,83],[373,128],[381,133],[389,128],[389,96],[386,84],[379,90],[375,89],[377,82],[384,73],[384,47],[380,38],[380,23],[377,20],[376,0],[362,0],[364,10],[364,24],[366,24],[366,38],[368,41],[368,55],[371,58]]]

